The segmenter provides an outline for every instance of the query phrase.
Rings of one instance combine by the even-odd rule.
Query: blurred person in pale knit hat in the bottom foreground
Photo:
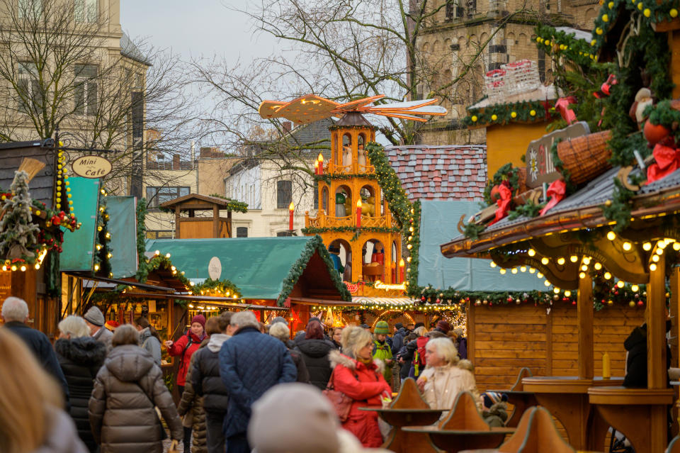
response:
[[[333,406],[321,391],[300,383],[275,386],[253,404],[248,439],[253,453],[387,453],[363,448],[339,426]]]

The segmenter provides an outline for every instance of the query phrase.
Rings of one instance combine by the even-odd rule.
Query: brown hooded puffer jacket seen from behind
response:
[[[162,453],[161,410],[171,438],[181,440],[182,423],[161,369],[146,349],[121,345],[109,352],[89,401],[92,434],[101,453]]]

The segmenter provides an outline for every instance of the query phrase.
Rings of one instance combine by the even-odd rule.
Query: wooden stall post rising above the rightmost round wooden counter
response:
[[[647,388],[666,388],[666,260],[650,271],[647,286]]]

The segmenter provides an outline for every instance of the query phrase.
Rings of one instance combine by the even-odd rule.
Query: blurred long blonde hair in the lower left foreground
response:
[[[33,452],[50,428],[47,406],[64,406],[62,389],[24,342],[2,328],[0,382],[0,452]]]

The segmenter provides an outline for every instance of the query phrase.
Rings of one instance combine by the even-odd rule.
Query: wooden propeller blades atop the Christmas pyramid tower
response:
[[[438,102],[438,99],[397,102],[379,106],[368,105],[384,97],[384,94],[378,94],[378,96],[369,96],[339,104],[316,94],[307,94],[290,102],[262,101],[258,113],[262,118],[285,118],[297,124],[314,123],[314,121],[331,116],[341,116],[348,112],[372,113],[421,123],[427,121],[427,118],[423,118],[423,116],[446,115],[446,108],[434,105]]]

